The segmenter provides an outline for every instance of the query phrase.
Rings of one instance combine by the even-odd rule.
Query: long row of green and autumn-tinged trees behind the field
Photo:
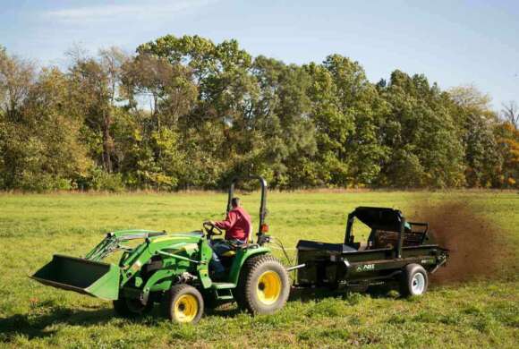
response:
[[[67,68],[0,47],[0,189],[517,188],[518,108],[343,55],[285,64],[236,40],[167,35]]]

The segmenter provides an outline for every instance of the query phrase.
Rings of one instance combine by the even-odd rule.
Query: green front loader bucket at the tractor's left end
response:
[[[31,278],[44,285],[109,301],[118,298],[120,275],[120,268],[114,264],[55,254]]]

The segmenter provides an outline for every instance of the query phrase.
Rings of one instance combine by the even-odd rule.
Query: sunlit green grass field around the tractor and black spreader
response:
[[[256,213],[259,196],[241,197],[244,206]],[[53,253],[84,255],[107,231],[200,229],[203,220],[224,215],[225,200],[224,194],[215,193],[0,195],[0,346],[519,344],[516,192],[269,193],[271,234],[292,248],[300,238],[342,241],[347,212],[362,205],[402,209],[413,218],[418,206],[461,200],[475,215],[488,218],[499,232],[499,246],[509,251],[505,259],[498,260],[496,277],[433,285],[428,294],[416,299],[400,299],[396,294],[320,294],[302,302],[293,297],[273,316],[252,318],[227,307],[208,314],[198,326],[178,326],[160,318],[157,310],[139,320],[115,318],[109,302],[39,285],[27,277]],[[472,229],[470,221],[466,229]],[[472,262],[471,256],[466,259]]]

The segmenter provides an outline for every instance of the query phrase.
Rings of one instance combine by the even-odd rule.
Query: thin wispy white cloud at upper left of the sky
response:
[[[106,4],[51,10],[44,16],[55,21],[113,21],[165,17],[202,7],[216,0],[170,0],[140,4]],[[151,4],[150,4],[151,3]]]

